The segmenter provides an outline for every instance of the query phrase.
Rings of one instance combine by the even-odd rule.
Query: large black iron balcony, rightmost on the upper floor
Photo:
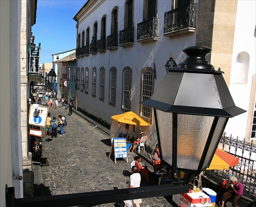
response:
[[[197,4],[189,3],[164,13],[164,36],[185,35],[196,30]]]

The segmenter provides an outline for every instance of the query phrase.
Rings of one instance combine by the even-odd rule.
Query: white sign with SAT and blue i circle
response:
[[[40,106],[38,104],[31,104],[29,108],[29,124],[35,126],[46,125],[49,107]]]

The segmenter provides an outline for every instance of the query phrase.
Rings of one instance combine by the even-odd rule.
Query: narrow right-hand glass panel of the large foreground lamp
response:
[[[209,167],[211,162],[211,156],[215,153],[216,146],[219,143],[220,137],[222,136],[227,120],[228,118],[226,117],[219,117],[201,172],[204,171],[207,167]]]

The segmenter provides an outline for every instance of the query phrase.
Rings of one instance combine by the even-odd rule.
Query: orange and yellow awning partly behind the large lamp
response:
[[[232,156],[228,152],[217,148],[214,154],[214,158],[210,163],[209,168],[206,170],[228,170],[229,167],[233,167],[239,163],[239,158]]]

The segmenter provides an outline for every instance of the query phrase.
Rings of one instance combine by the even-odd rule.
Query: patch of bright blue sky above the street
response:
[[[76,48],[73,17],[87,0],[37,0],[34,43],[41,43],[40,63],[51,63],[52,54]]]

